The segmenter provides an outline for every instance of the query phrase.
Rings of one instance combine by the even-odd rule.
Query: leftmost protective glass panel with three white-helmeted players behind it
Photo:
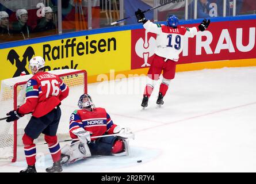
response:
[[[0,0],[0,43],[58,33],[55,1]]]

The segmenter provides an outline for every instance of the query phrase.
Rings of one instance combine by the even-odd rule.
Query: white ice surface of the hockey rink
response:
[[[140,76],[88,85],[95,106],[135,133],[131,153],[93,156],[63,172],[256,172],[256,67],[177,72],[165,104],[155,104],[158,84],[142,110],[146,82]],[[37,172],[45,172],[52,165],[47,145],[37,152]],[[0,172],[25,167],[22,147],[16,163],[0,162]]]

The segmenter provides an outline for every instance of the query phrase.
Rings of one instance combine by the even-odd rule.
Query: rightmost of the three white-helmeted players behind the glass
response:
[[[52,14],[51,7],[43,7],[42,9],[42,18],[37,20],[36,28],[33,30],[34,32],[42,32],[45,30],[52,30],[56,29],[56,26],[54,24],[54,21],[52,20],[53,14]]]

